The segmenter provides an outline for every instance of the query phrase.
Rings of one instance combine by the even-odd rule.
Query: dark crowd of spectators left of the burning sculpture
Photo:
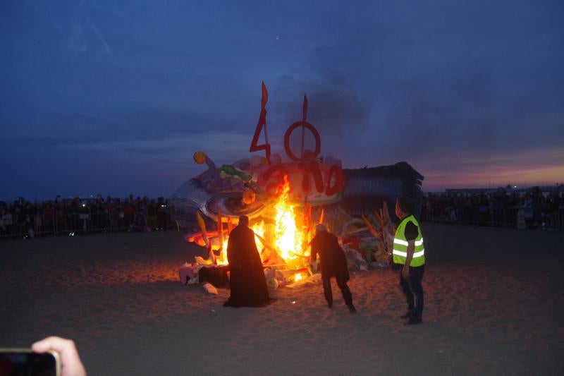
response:
[[[0,238],[75,235],[102,231],[166,231],[171,208],[164,198],[64,198],[0,201]]]

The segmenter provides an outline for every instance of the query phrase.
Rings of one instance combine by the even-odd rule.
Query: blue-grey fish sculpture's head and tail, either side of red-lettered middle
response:
[[[206,171],[209,172],[210,170]],[[256,217],[264,209],[262,200],[255,200],[243,205],[244,186],[240,178],[232,176],[212,176],[200,174],[183,183],[168,198],[168,206],[172,208],[173,219],[185,229],[197,229],[196,212],[202,212],[209,224],[214,224],[221,210],[225,217],[247,215]],[[345,183],[341,199],[326,207],[326,215],[331,216],[335,210],[344,210],[351,217],[360,218],[380,210],[384,201],[391,208],[396,205],[396,198],[408,198],[415,208],[415,216],[419,217],[422,205],[422,181],[424,176],[406,162],[398,162],[389,166],[364,167],[362,169],[343,169]],[[223,179],[223,181],[221,181]],[[212,181],[214,190],[206,188]]]

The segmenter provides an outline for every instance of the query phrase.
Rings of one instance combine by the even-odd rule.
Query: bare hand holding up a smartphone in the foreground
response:
[[[62,376],[86,376],[86,370],[80,361],[72,339],[49,336],[35,342],[31,345],[31,348],[35,353],[45,353],[49,350],[57,351],[61,355]]]

